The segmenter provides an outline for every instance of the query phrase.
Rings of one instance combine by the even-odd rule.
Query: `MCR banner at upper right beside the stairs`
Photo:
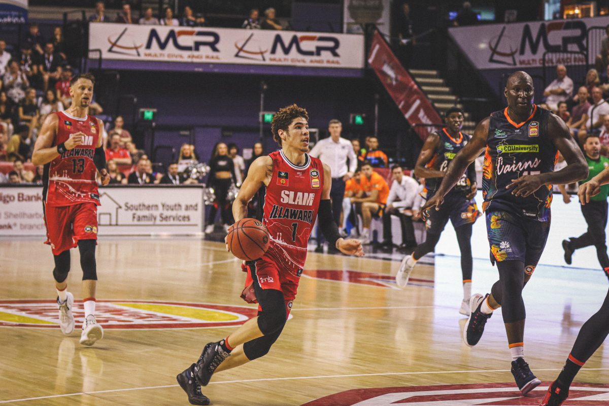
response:
[[[609,17],[581,18],[529,23],[488,24],[484,26],[451,27],[448,32],[478,69],[535,68],[543,66],[544,52],[586,53],[588,29],[605,27]],[[591,37],[600,49],[600,38]],[[594,62],[594,55],[589,55]],[[585,65],[583,55],[552,57],[546,65]]]

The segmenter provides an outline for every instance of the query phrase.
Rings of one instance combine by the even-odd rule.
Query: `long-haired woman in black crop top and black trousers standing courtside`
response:
[[[231,209],[231,201],[227,201],[228,189],[231,184],[236,183],[234,174],[233,159],[228,156],[228,147],[224,142],[218,142],[214,147],[214,152],[209,160],[209,179],[208,187],[214,188],[216,201],[209,209],[209,218],[205,227],[205,234],[214,231],[214,222],[216,220],[216,211],[220,209],[220,217],[224,231],[228,232],[228,227],[234,223],[233,212]]]

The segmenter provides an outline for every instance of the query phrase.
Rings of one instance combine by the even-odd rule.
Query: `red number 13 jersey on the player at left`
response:
[[[68,141],[82,131],[83,143],[64,152],[44,166],[44,203],[47,206],[71,206],[79,203],[99,205],[93,154],[100,135],[99,122],[93,116],[72,117],[65,111],[57,114],[57,136],[53,145]]]

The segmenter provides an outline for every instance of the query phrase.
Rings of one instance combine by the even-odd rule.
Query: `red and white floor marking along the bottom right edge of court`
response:
[[[513,382],[353,389],[301,406],[532,406],[540,404],[549,384],[544,382],[526,397],[520,394]],[[569,389],[569,399],[563,406],[608,404],[609,385],[573,383]]]

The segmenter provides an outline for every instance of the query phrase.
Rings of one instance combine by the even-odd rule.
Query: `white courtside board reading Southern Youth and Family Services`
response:
[[[100,236],[197,234],[203,230],[203,187],[100,187]],[[0,187],[0,234],[46,236],[42,187]]]

